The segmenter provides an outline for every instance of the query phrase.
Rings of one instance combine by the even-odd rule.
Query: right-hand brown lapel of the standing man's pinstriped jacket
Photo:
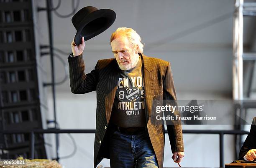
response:
[[[145,80],[145,114],[146,114],[146,122],[148,122],[149,116],[152,110],[152,103],[154,97],[154,66],[150,58],[146,55],[141,54],[143,58],[143,65],[144,65],[144,80]]]

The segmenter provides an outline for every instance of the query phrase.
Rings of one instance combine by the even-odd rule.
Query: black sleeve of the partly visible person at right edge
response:
[[[243,160],[243,157],[246,155],[246,153],[249,150],[256,148],[255,141],[256,141],[256,117],[253,119],[250,133],[246,137],[246,140],[244,141],[241,147],[241,150],[239,152],[239,160]]]

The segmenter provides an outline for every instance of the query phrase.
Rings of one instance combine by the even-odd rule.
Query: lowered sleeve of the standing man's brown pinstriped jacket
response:
[[[164,89],[164,100],[176,100],[176,93],[174,88],[174,82],[172,77],[172,70],[170,63],[168,63],[166,74],[163,80]],[[175,111],[174,115],[179,115],[179,111]],[[183,146],[183,135],[182,135],[182,125],[180,122],[172,122],[166,124],[169,140],[171,143],[172,153],[174,152],[184,152]]]

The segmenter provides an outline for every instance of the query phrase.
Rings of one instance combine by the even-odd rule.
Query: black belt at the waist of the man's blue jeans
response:
[[[111,127],[115,130],[118,130],[119,133],[124,133],[124,134],[128,134],[128,135],[136,135],[139,133],[143,133],[147,130],[147,127],[128,127],[128,128],[124,128],[124,127],[120,127],[118,125],[114,125],[111,124]]]

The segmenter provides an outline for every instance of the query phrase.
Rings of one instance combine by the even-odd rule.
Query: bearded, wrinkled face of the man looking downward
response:
[[[138,50],[134,48],[127,37],[118,36],[111,42],[112,52],[121,70],[134,68],[139,60]]]

